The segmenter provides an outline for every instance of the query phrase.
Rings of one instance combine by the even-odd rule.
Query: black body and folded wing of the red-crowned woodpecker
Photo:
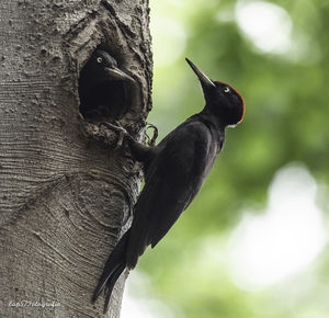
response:
[[[188,120],[157,147],[135,205],[127,265],[155,247],[192,202],[218,154],[216,136],[200,120]]]

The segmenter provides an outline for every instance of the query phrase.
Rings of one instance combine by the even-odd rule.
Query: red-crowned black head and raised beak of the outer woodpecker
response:
[[[196,73],[203,89],[206,102],[204,111],[216,115],[224,126],[239,124],[245,115],[245,102],[240,93],[224,82],[212,81],[190,59],[186,58],[186,61]]]

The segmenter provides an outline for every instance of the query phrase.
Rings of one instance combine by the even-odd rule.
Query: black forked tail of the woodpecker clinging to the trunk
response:
[[[99,284],[93,293],[92,303],[94,303],[105,287],[105,304],[104,311],[107,311],[113,287],[126,268],[125,252],[126,245],[129,238],[131,230],[127,230],[121,240],[117,242],[112,253],[110,254]]]

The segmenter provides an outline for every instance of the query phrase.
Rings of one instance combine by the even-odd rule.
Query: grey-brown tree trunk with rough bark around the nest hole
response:
[[[0,2],[0,317],[104,317],[91,295],[140,173],[111,148],[116,133],[79,115],[78,77],[98,45],[109,50],[138,83],[122,124],[140,132],[148,13],[147,0]],[[110,317],[120,316],[123,279]]]

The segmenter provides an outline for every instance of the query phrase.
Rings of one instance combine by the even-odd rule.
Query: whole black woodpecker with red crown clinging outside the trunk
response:
[[[191,60],[186,61],[201,82],[204,109],[155,147],[139,144],[125,133],[132,155],[145,163],[145,186],[134,206],[132,226],[109,257],[93,294],[95,302],[105,289],[105,310],[121,273],[134,269],[145,249],[154,248],[186,209],[223,148],[225,128],[237,125],[245,115],[238,91],[211,80]]]

